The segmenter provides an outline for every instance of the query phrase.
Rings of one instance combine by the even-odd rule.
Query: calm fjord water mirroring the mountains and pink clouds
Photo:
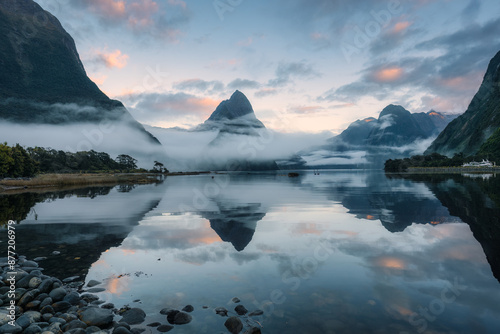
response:
[[[227,332],[214,308],[235,313],[233,297],[264,311],[243,317],[264,333],[497,333],[499,189],[492,175],[245,173],[0,202],[45,274],[102,281],[102,300],[148,323],[193,305],[175,333]]]

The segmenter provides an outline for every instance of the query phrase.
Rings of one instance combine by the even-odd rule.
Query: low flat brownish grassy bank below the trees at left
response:
[[[117,174],[41,174],[31,179],[0,180],[0,191],[20,188],[46,188],[68,186],[94,186],[112,184],[156,183],[158,174],[117,173]]]

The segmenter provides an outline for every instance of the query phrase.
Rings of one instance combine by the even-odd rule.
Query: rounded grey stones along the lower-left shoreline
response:
[[[105,291],[99,287],[101,282],[91,280],[84,286],[79,276],[60,280],[44,275],[38,264],[44,259],[28,260],[16,256],[14,270],[11,270],[8,259],[0,258],[0,333],[175,333],[176,326],[189,326],[193,319],[194,307],[186,305],[181,310],[164,308],[159,311],[165,316],[164,321],[148,323],[146,313],[140,308],[128,305],[116,308],[100,300],[95,293]],[[224,307],[202,308],[225,318],[224,326],[229,333],[242,333],[243,330],[245,334],[261,333],[260,324],[251,317],[263,312],[249,313],[236,297],[232,303],[236,305],[234,312]]]

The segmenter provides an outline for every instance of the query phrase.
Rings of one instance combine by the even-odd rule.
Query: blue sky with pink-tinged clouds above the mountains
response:
[[[102,91],[167,128],[236,89],[287,133],[339,133],[391,103],[460,114],[500,50],[497,0],[35,1]]]

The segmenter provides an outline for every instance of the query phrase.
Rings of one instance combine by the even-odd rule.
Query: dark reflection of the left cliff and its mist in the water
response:
[[[142,187],[134,197],[122,187],[2,195],[2,222],[22,220],[16,226],[17,251],[32,259],[47,257],[40,263],[45,274],[84,277],[103,252],[119,246],[160,202],[162,194],[152,191],[154,186]]]

